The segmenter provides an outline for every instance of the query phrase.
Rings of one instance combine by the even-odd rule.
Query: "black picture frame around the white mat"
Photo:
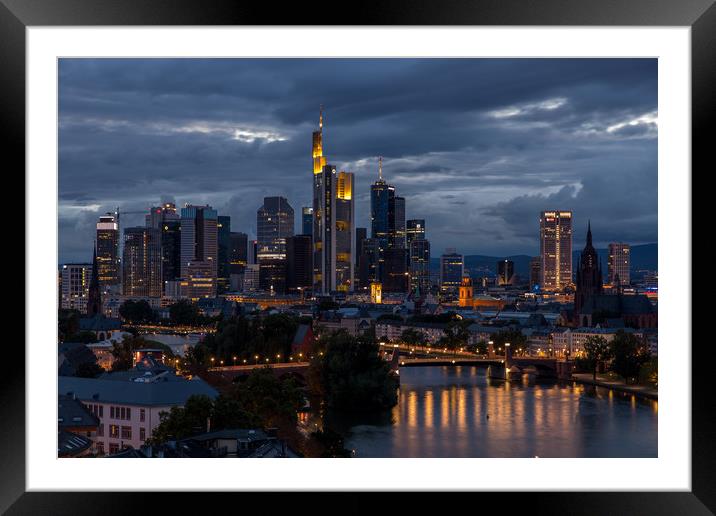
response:
[[[339,15],[338,9],[345,10]],[[716,113],[714,0],[460,0],[450,3],[394,0],[364,1],[355,5],[294,3],[281,7],[229,0],[0,0],[0,122],[5,129],[3,154],[6,177],[24,175],[27,27],[289,24],[690,26],[693,169],[705,169],[713,152],[707,130],[714,125]],[[710,170],[713,170],[712,163]],[[702,172],[705,174],[706,170]],[[691,321],[681,323],[685,328],[691,328]],[[685,333],[690,334],[690,331]],[[690,344],[688,340],[682,343],[685,346]],[[696,346],[693,350],[696,351]],[[3,416],[0,417],[0,511],[7,510],[7,514],[144,514],[181,508],[183,513],[189,508],[189,496],[192,500],[199,500],[196,494],[177,493],[135,493],[130,496],[116,492],[26,493],[23,351],[17,346],[6,347],[4,360],[13,365],[6,367],[0,375],[0,410]],[[509,503],[511,511],[529,511],[531,514],[716,513],[716,481],[712,477],[716,469],[716,429],[710,420],[714,403],[707,384],[711,369],[708,361],[693,362],[691,492],[479,493],[462,495],[463,498],[471,497],[469,501],[462,500],[467,503],[464,507],[484,510],[495,502],[500,506]],[[259,507],[263,506],[259,513],[275,514],[283,508],[300,510],[305,494],[271,495],[269,498],[266,494],[249,496],[247,493],[209,496],[217,510],[221,507],[229,509],[229,504],[237,503],[238,496],[245,510],[252,510],[249,507],[258,503]],[[322,498],[320,507],[311,502],[307,502],[305,507],[311,512],[323,512],[325,509],[335,512],[335,502],[328,501],[332,500],[332,495],[328,497]],[[340,501],[340,512],[367,512],[373,510],[376,504],[385,503],[375,500],[372,493],[353,493],[347,497],[348,500]],[[403,511],[419,509],[424,506],[425,498],[425,494],[401,497],[400,508]],[[201,503],[203,505],[204,502]]]

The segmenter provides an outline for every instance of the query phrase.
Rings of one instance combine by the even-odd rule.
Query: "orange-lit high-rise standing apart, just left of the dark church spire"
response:
[[[572,285],[572,212],[540,214],[542,290],[561,291]]]

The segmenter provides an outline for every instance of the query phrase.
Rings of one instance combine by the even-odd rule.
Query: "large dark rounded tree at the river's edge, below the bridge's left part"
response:
[[[387,409],[398,402],[398,381],[378,356],[371,339],[345,330],[322,339],[323,354],[315,355],[308,372],[310,391],[337,410]]]

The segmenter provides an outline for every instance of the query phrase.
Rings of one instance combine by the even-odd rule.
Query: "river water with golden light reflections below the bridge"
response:
[[[656,457],[657,403],[572,383],[505,383],[474,366],[401,369],[392,411],[326,414],[356,457]]]

